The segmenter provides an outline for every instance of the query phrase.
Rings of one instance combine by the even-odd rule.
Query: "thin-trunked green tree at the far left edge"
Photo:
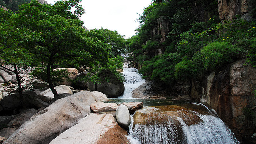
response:
[[[33,54],[26,49],[27,41],[30,40],[30,35],[33,34],[29,30],[21,30],[16,27],[15,15],[10,11],[0,9],[0,56],[3,63],[0,62],[0,67],[15,73],[20,102],[24,108],[21,77],[19,76],[19,68],[22,66],[29,66],[33,60]],[[4,64],[11,64],[14,70],[5,67]]]

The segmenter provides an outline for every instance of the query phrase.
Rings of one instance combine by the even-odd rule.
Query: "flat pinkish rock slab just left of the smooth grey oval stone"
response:
[[[99,113],[104,111],[115,111],[118,105],[116,103],[94,102],[90,105],[90,107],[94,113]]]

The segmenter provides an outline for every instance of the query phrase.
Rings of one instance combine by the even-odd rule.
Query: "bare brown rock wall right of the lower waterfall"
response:
[[[192,80],[191,94],[216,110],[240,142],[255,143],[255,87],[255,68],[239,60],[200,81]]]

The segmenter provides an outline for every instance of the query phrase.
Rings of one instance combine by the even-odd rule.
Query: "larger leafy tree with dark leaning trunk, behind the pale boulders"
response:
[[[47,80],[54,96],[57,91],[50,75],[54,64],[65,66],[76,61],[86,67],[93,67],[108,62],[108,46],[87,37],[81,27],[83,22],[78,17],[83,14],[83,10],[71,12],[71,7],[80,8],[78,2],[80,0],[69,0],[46,5],[33,0],[22,5],[19,14],[16,14],[20,23],[18,27],[35,33],[31,36],[33,44],[27,46],[35,54],[35,59],[45,62]]]

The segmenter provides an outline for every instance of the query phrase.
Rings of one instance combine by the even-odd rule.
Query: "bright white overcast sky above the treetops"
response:
[[[46,0],[54,4],[58,0]],[[139,22],[138,14],[151,4],[152,0],[82,0],[80,5],[85,9],[81,16],[88,29],[109,29],[129,38],[135,35]],[[138,13],[138,14],[137,14]]]

